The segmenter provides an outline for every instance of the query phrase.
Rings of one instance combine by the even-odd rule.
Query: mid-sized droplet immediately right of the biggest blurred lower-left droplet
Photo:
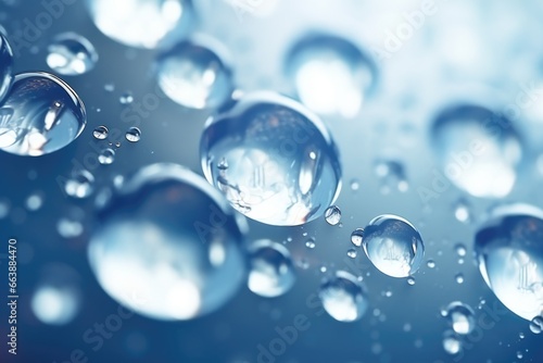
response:
[[[294,266],[285,246],[262,239],[249,248],[250,272],[248,286],[261,297],[275,298],[294,285]]]

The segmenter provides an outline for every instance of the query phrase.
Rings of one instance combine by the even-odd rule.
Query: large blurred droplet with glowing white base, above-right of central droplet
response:
[[[286,59],[286,73],[311,110],[353,117],[374,86],[376,67],[346,39],[312,35],[294,43]]]

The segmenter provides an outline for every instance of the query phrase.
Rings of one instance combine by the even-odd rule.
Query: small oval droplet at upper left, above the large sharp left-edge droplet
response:
[[[47,51],[47,65],[65,76],[85,74],[98,62],[94,46],[85,37],[71,32],[55,36]]]

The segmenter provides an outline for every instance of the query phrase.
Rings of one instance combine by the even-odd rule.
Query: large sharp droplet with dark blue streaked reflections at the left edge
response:
[[[17,74],[0,105],[0,149],[48,154],[74,141],[86,123],[83,101],[62,79],[43,72]]]

